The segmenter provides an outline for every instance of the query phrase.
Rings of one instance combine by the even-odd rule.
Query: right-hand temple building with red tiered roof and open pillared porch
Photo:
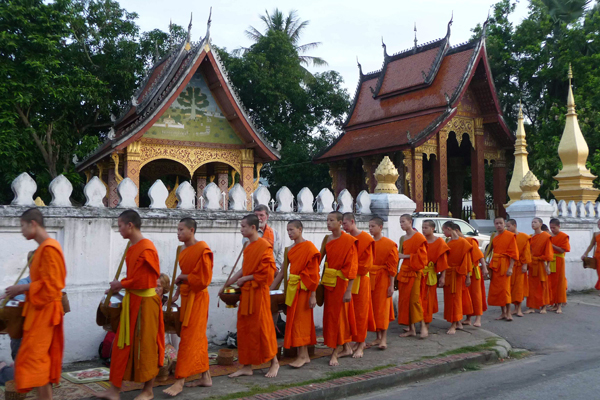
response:
[[[507,157],[515,136],[507,127],[496,95],[484,34],[450,45],[446,36],[388,55],[383,67],[363,73],[343,133],[315,157],[328,163],[337,195],[348,189],[373,193],[373,173],[384,156],[399,169],[397,182],[417,204],[434,205],[441,215],[459,217],[467,177],[473,212],[486,218],[486,170],[493,175],[494,208],[505,215]],[[493,172],[490,170],[492,169]],[[450,203],[449,204],[449,198]]]

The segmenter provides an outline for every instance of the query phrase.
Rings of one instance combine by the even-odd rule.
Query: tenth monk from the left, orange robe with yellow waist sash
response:
[[[427,259],[429,260],[427,267],[423,270],[423,279],[421,280],[421,303],[423,305],[423,319],[429,325],[433,320],[433,314],[439,311],[437,276],[438,274],[446,275],[450,247],[444,239],[434,235],[435,222],[432,220],[423,221],[421,230],[425,239],[427,239]]]

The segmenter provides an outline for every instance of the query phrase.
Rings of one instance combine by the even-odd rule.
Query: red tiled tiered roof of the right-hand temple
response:
[[[451,47],[451,22],[442,39],[392,56],[384,51],[380,71],[363,74],[359,68],[344,132],[315,157],[316,162],[417,147],[456,115],[468,88],[477,99],[485,129],[502,136],[502,144],[514,141],[502,118],[487,62],[485,35]]]

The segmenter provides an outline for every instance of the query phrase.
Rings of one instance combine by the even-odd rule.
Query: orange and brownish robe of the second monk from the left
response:
[[[152,241],[142,239],[129,247],[125,261],[127,276],[121,280],[125,289],[135,291],[156,288],[160,263]],[[161,298],[156,293],[152,297],[141,297],[130,292],[129,296],[130,344],[122,349],[117,345],[119,333],[124,329],[119,324],[111,353],[110,381],[118,388],[123,381],[152,380],[158,375],[158,369],[162,367],[165,358]]]

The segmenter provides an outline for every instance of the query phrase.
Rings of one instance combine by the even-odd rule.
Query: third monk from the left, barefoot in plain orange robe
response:
[[[177,239],[184,243],[179,253],[181,274],[175,279],[179,285],[173,302],[181,296],[181,342],[177,351],[177,381],[163,390],[169,396],[177,396],[183,390],[185,379],[202,374],[199,380],[190,382],[192,386],[212,386],[208,371],[208,285],[212,280],[213,253],[205,242],[196,240],[196,221],[183,218],[177,227]]]

